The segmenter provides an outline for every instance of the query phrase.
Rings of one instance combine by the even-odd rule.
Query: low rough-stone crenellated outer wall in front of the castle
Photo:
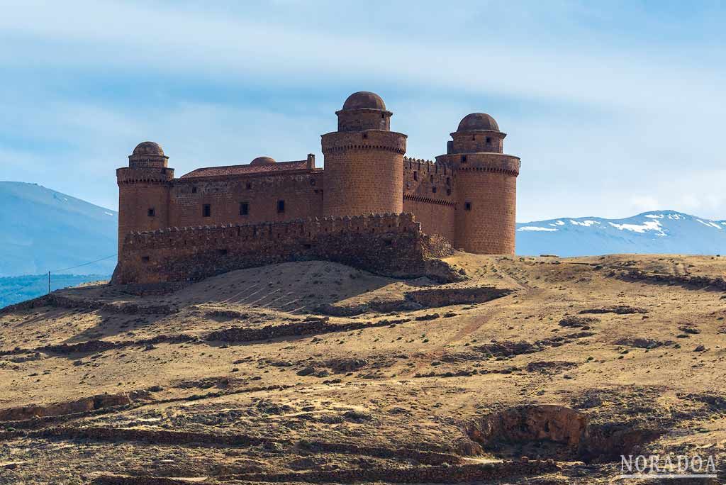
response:
[[[322,259],[378,274],[432,275],[441,280],[451,245],[428,237],[410,214],[168,228],[126,236],[114,283],[198,280],[214,274],[284,261]],[[445,266],[445,265],[444,265]]]

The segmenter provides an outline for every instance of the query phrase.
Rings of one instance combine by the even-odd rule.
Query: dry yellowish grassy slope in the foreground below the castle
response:
[[[6,311],[0,478],[605,483],[633,445],[726,463],[726,293],[688,284],[725,258],[449,262],[470,279],[443,288],[515,292],[417,309],[442,287],[312,261]],[[554,464],[502,462],[523,455]]]

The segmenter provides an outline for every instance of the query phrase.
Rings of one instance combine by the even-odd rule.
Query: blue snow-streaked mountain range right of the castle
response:
[[[726,254],[726,221],[676,211],[627,219],[578,217],[517,224],[517,254]]]

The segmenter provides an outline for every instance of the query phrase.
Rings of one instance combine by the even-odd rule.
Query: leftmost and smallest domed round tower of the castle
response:
[[[142,142],[129,155],[129,166],[116,170],[118,182],[118,254],[132,231],[169,227],[169,182],[174,168],[158,143]]]

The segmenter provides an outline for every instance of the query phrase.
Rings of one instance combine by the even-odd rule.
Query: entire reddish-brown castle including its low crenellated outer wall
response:
[[[420,248],[434,237],[428,240],[473,253],[514,253],[521,163],[503,153],[506,134],[494,118],[467,115],[446,153],[427,160],[404,156],[407,135],[391,131],[393,113],[377,94],[351,94],[335,114],[338,131],[321,139],[324,169],[314,155],[285,162],[261,156],[175,178],[159,144],[139,144],[116,172],[115,280],[184,280],[216,274],[208,265],[298,256],[377,267],[359,241],[380,249],[409,240]],[[368,255],[365,264],[356,251]],[[220,257],[227,254],[234,258]],[[204,268],[190,262],[195,258]]]

